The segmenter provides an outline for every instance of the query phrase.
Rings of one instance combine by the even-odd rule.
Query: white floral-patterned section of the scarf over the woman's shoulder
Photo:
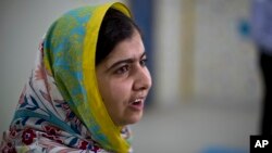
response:
[[[86,123],[64,100],[51,72],[53,69],[48,69],[48,63],[45,63],[47,61],[44,47],[45,40],[39,47],[35,67],[20,97],[10,129],[3,133],[0,151],[3,153],[109,152],[103,144],[94,139],[96,133],[91,133]],[[66,80],[58,79],[58,81]],[[128,140],[131,138],[128,127],[124,127],[120,136]],[[132,149],[128,152],[132,152]]]

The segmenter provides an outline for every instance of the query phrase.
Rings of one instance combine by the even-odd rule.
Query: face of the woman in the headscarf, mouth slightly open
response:
[[[132,38],[118,43],[96,67],[100,94],[116,126],[134,124],[143,116],[151,87],[146,60],[141,37],[135,31]]]

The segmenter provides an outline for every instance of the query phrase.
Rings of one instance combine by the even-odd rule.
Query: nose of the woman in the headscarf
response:
[[[147,67],[139,67],[135,73],[134,90],[149,90],[152,79]]]

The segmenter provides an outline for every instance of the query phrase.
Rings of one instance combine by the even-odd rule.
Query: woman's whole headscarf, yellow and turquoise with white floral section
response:
[[[72,10],[57,20],[39,47],[2,152],[131,152],[129,130],[113,124],[99,93],[96,44],[109,8]]]

